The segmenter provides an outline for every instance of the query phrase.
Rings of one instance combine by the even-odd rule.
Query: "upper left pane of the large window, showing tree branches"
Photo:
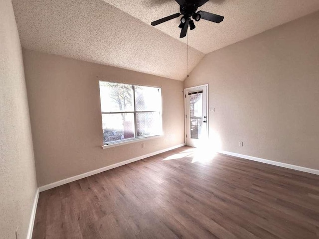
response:
[[[100,81],[102,112],[133,112],[132,85]]]

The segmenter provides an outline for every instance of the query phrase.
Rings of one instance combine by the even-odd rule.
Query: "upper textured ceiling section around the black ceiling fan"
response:
[[[174,0],[104,1],[148,24],[179,12],[179,5]],[[319,10],[319,0],[209,0],[198,10],[225,16],[219,24],[206,20],[195,22],[196,28],[187,33],[188,44],[207,54]],[[186,37],[179,38],[179,18],[155,27],[186,42]]]

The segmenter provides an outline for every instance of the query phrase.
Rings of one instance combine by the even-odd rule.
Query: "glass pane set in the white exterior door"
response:
[[[196,93],[189,95],[189,109],[190,109],[190,138],[201,138],[201,128],[203,123],[203,93]]]

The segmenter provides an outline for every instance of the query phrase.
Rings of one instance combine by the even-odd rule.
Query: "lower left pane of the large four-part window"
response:
[[[134,138],[134,114],[102,114],[104,144]]]

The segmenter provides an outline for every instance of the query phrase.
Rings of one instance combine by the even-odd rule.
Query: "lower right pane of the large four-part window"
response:
[[[160,112],[136,113],[137,136],[158,135],[161,131]]]

